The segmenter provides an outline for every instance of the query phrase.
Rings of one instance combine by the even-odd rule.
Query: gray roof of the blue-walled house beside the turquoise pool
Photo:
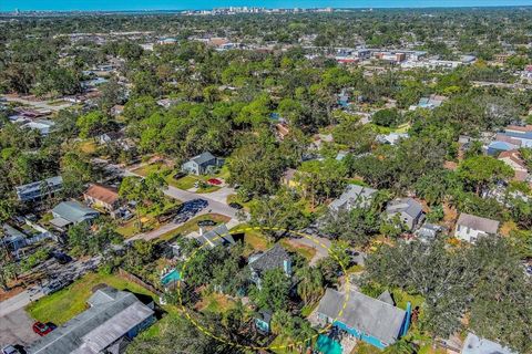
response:
[[[338,316],[344,308],[345,299],[346,294],[327,289],[324,298],[319,301],[317,311],[329,319],[336,319],[350,329],[371,335],[385,344],[397,341],[407,314],[406,311],[351,290],[346,308]]]

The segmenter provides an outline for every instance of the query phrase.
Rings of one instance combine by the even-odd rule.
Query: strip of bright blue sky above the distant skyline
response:
[[[532,6],[532,0],[0,0],[0,11],[142,11],[259,8],[430,8]]]

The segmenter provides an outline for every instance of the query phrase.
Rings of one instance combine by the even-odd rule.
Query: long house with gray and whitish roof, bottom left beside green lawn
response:
[[[153,301],[111,287],[96,290],[89,309],[41,337],[29,354],[123,353],[125,345],[155,320]]]

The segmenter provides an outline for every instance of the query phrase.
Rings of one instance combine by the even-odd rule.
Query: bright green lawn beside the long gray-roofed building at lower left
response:
[[[134,293],[150,295],[156,300],[153,293],[120,275],[98,272],[88,273],[70,287],[32,302],[25,310],[38,321],[50,321],[57,325],[63,324],[86,309],[86,301],[92,294],[92,289],[102,283],[120,290],[126,289]]]

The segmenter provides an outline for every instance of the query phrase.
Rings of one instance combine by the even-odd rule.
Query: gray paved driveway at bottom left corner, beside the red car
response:
[[[11,345],[28,346],[40,336],[32,330],[33,320],[23,309],[0,317],[0,347]]]

